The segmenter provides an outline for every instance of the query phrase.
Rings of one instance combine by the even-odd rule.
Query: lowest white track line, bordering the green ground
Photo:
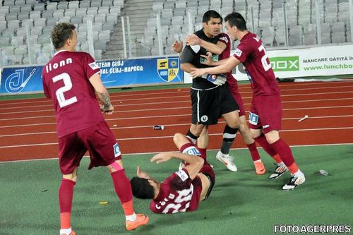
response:
[[[322,147],[322,146],[332,146],[332,145],[353,145],[352,143],[337,143],[337,144],[322,144],[322,145],[290,145],[290,147]],[[260,149],[261,147],[257,147]],[[247,147],[237,147],[237,148],[231,148],[230,150],[247,150]],[[208,151],[218,151],[219,149],[208,149]],[[155,155],[156,153],[159,152],[134,152],[134,153],[124,153],[125,156],[133,156],[133,155]],[[83,156],[83,157],[90,157],[90,156]],[[41,159],[26,159],[26,160],[15,160],[15,161],[4,161],[0,162],[1,164],[6,164],[6,163],[16,163],[16,162],[37,162],[37,161],[47,161],[47,160],[58,160],[58,157],[54,158],[41,158]]]

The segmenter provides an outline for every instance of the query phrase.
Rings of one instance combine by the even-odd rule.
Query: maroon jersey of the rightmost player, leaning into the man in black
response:
[[[258,35],[249,32],[240,40],[234,57],[244,64],[254,95],[280,93],[275,73],[271,68],[263,42]]]

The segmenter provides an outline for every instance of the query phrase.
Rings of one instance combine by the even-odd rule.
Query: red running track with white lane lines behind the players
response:
[[[280,83],[281,136],[289,145],[353,143],[353,81]],[[240,85],[246,110],[249,85]],[[106,116],[123,153],[175,150],[174,133],[186,133],[191,121],[189,88],[111,94],[116,112]],[[304,115],[309,119],[298,122]],[[163,131],[152,130],[155,124]],[[209,149],[222,141],[224,121],[210,126]],[[44,98],[0,102],[0,162],[57,157],[55,114]],[[245,147],[241,135],[232,147]]]

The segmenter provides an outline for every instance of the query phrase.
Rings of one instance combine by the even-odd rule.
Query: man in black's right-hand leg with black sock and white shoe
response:
[[[238,111],[222,114],[227,126],[223,131],[223,141],[220,151],[217,152],[216,159],[225,164],[229,171],[237,171],[237,166],[234,164],[234,157],[229,156],[230,147],[237,136],[237,131],[240,125]]]

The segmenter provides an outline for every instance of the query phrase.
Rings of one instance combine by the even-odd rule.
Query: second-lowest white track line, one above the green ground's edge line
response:
[[[312,128],[312,129],[297,129],[297,130],[282,130],[280,132],[296,132],[296,131],[330,131],[330,130],[347,130],[353,129],[353,126],[347,127],[335,127],[335,128]],[[223,135],[223,133],[213,133],[210,135]],[[119,138],[117,141],[125,141],[125,140],[150,140],[150,139],[165,139],[172,138],[173,135],[165,135],[165,136],[151,136],[151,137],[140,137],[140,138]],[[42,145],[57,145],[58,143],[37,143],[37,144],[28,144],[28,145],[6,145],[0,146],[0,148],[11,148],[11,147],[32,147],[32,146],[42,146]]]

